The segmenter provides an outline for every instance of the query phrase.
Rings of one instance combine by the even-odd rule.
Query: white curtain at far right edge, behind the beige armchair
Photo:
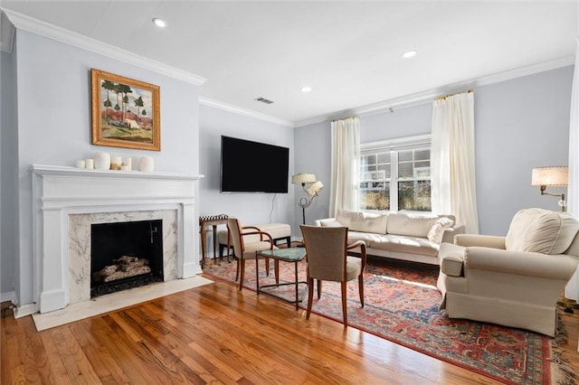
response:
[[[571,116],[569,117],[569,185],[567,186],[567,211],[579,217],[579,36],[575,48],[575,68],[571,90]],[[565,286],[567,298],[579,300],[579,270],[575,271]]]

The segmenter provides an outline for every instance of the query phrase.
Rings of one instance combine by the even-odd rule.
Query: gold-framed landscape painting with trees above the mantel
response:
[[[90,70],[92,144],[161,151],[159,87]]]

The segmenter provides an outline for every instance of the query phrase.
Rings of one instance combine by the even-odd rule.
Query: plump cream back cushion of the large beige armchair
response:
[[[505,249],[563,254],[578,230],[579,221],[567,212],[524,209],[510,223]]]

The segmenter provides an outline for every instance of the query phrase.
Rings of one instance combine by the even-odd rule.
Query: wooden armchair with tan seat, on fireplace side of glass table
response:
[[[271,235],[265,231],[261,231],[258,228],[252,226],[242,227],[237,218],[227,219],[227,230],[229,231],[232,245],[233,253],[235,258],[237,258],[237,269],[235,272],[235,280],[239,277],[239,289],[243,288],[243,280],[245,279],[245,260],[255,259],[256,251],[267,250],[267,249],[277,249],[273,244],[273,239]],[[246,237],[259,236],[259,239],[254,239],[252,241],[245,241]],[[280,282],[280,266],[278,261],[275,261],[275,278],[276,283]],[[257,264],[256,264],[257,265]],[[266,272],[270,274],[270,263],[269,258],[265,258]],[[240,277],[241,268],[241,277]]]

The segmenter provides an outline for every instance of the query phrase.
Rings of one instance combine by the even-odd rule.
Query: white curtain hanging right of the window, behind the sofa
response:
[[[474,157],[474,93],[435,99],[432,105],[432,212],[451,213],[479,233]]]

